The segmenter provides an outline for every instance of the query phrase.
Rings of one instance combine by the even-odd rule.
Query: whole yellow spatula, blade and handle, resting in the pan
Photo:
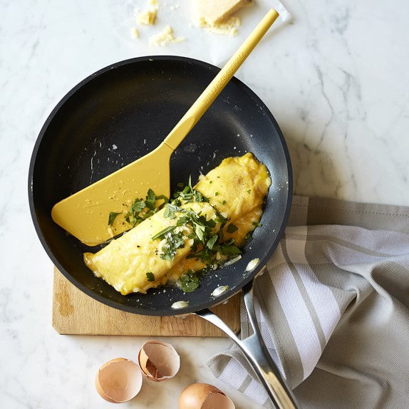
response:
[[[271,9],[203,91],[163,142],[152,152],[104,177],[54,205],[51,217],[84,244],[95,246],[130,229],[123,213],[133,201],[152,189],[156,195],[170,194],[170,155],[195,126],[243,61],[276,21]],[[112,226],[111,212],[120,212]]]

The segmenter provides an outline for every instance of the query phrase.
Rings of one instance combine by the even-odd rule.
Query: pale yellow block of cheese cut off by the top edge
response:
[[[235,11],[251,3],[252,0],[195,0],[195,15],[209,26],[217,26]]]

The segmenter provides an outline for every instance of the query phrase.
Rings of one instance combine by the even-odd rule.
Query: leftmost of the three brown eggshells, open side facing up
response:
[[[138,395],[142,387],[142,373],[138,365],[129,359],[111,359],[99,368],[95,387],[108,402],[126,402]]]

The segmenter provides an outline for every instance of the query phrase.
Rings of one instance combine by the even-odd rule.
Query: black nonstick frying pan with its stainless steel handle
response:
[[[253,152],[269,169],[262,227],[244,249],[242,259],[206,274],[192,293],[167,287],[123,296],[83,263],[87,247],[51,219],[51,208],[64,197],[109,175],[155,149],[219,68],[190,58],[149,56],[114,63],[75,86],[43,125],[29,168],[29,203],[33,223],[53,263],[78,289],[116,309],[155,316],[195,313],[222,328],[252,363],[271,400],[279,408],[296,408],[291,390],[266,353],[252,309],[252,281],[279,243],[291,206],[291,164],[279,126],[266,105],[237,78],[222,93],[175,150],[170,160],[171,192],[177,183],[196,181],[224,157]],[[137,175],[138,176],[138,175]],[[252,259],[259,264],[252,271]],[[212,291],[228,286],[217,298]],[[209,310],[244,290],[254,336],[239,341]],[[182,310],[175,301],[189,301]],[[256,338],[259,338],[258,342]]]

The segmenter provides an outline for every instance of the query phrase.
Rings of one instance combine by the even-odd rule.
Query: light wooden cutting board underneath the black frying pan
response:
[[[240,294],[214,311],[234,332],[240,329]],[[71,335],[226,336],[195,315],[185,317],[131,314],[95,301],[54,268],[53,327]]]

